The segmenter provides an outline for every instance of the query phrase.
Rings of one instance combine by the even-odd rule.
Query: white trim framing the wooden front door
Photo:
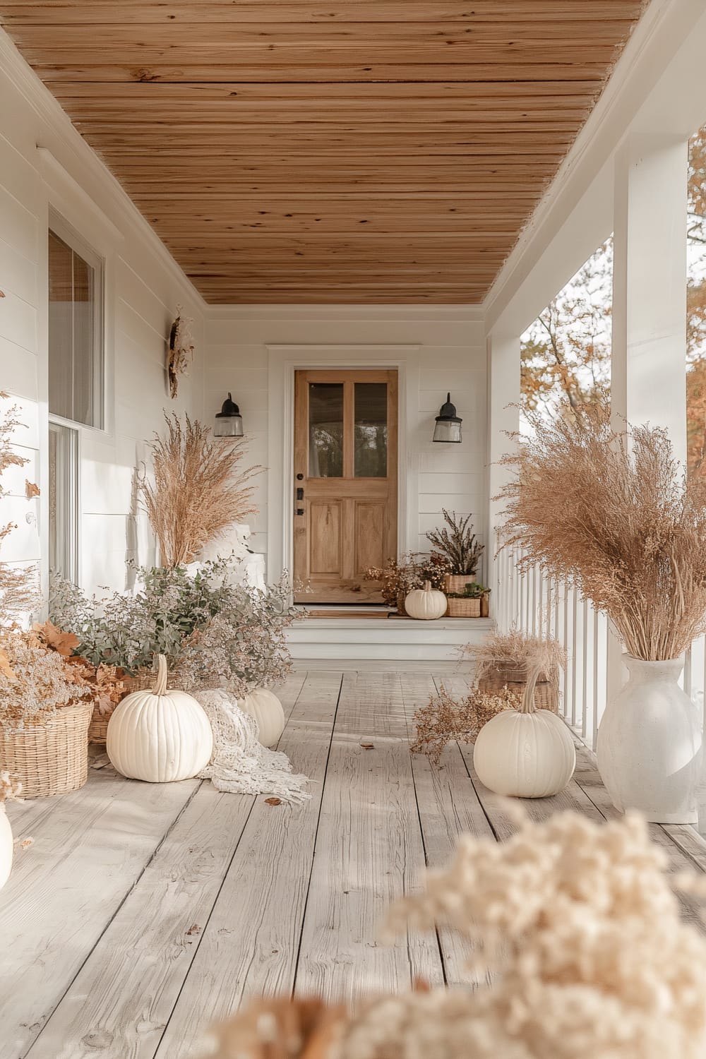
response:
[[[408,503],[416,489],[410,482],[408,423],[416,414],[420,345],[369,344],[266,345],[268,351],[268,578],[291,574],[294,539],[294,372],[315,369],[393,369],[398,374],[397,540],[404,552],[414,546],[416,508]]]

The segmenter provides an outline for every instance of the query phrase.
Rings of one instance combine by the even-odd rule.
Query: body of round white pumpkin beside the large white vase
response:
[[[473,766],[495,794],[548,797],[574,775],[576,750],[566,724],[548,710],[504,710],[481,729]]]

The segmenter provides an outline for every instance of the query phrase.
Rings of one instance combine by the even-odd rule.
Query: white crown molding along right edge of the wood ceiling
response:
[[[703,12],[703,0],[651,0],[600,98],[484,301],[489,329],[503,324],[502,317],[511,299],[600,174]],[[600,243],[601,235],[597,233],[594,249]]]

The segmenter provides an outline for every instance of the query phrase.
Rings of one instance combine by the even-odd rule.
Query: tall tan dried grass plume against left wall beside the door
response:
[[[219,438],[185,416],[164,416],[166,435],[150,443],[152,473],[140,481],[147,516],[165,567],[192,562],[229,525],[256,513],[252,480],[260,467],[242,469],[247,441]]]

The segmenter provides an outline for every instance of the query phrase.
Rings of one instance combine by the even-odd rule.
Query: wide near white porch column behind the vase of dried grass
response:
[[[688,142],[628,137],[615,161],[614,426],[666,427],[686,462],[686,268]],[[622,683],[611,635],[609,696]]]

